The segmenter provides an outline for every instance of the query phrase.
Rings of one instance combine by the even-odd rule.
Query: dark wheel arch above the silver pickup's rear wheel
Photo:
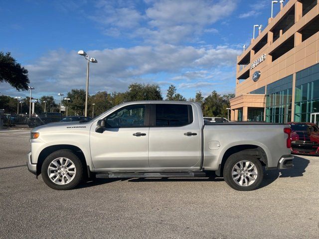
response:
[[[224,165],[228,157],[234,153],[245,153],[249,155],[255,156],[259,159],[263,166],[268,165],[268,156],[265,149],[256,144],[240,144],[229,147],[225,153],[223,154],[221,161],[218,166],[218,170],[216,171],[217,176],[222,176],[222,172],[224,169]]]

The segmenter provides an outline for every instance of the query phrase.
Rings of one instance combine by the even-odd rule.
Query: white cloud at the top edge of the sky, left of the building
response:
[[[152,44],[177,44],[193,41],[203,32],[217,33],[211,27],[230,15],[237,0],[160,0],[147,1],[145,11],[128,1],[99,0],[90,16],[107,35],[141,38]]]

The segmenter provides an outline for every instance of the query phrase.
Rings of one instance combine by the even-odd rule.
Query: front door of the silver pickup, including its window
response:
[[[96,169],[149,168],[150,104],[128,105],[105,118],[103,132],[91,127]]]

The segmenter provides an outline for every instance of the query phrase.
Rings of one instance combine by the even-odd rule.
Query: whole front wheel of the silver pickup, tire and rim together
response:
[[[43,181],[56,190],[75,188],[82,180],[81,160],[69,149],[61,149],[47,156],[42,164]]]

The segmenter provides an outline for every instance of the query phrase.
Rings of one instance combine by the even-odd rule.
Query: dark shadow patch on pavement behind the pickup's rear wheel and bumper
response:
[[[264,171],[264,180],[259,188],[266,187],[267,185],[273,183],[277,178],[293,178],[304,176],[310,161],[306,158],[295,155],[293,162],[295,165],[293,168]]]

